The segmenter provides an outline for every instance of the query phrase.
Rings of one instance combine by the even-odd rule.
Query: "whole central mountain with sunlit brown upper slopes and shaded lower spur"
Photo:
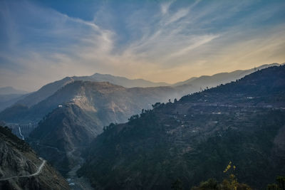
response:
[[[75,81],[23,112],[25,120],[43,117],[28,142],[58,170],[66,173],[81,162],[83,147],[111,122],[168,100],[172,88],[123,88],[110,83]],[[59,107],[58,107],[59,105]],[[55,110],[54,107],[57,107]],[[22,117],[23,118],[23,117]],[[27,119],[28,118],[28,119]]]

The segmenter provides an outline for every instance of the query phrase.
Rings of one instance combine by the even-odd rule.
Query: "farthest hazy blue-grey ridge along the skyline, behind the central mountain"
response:
[[[166,100],[163,99],[165,97],[170,97],[171,99],[174,99],[174,98],[179,99],[180,97],[182,97],[182,95],[187,95],[189,93],[195,93],[204,88],[211,88],[219,84],[229,83],[231,81],[244,77],[244,75],[254,72],[254,70],[259,70],[261,68],[266,68],[266,67],[274,66],[274,65],[279,65],[279,64],[272,63],[269,65],[261,65],[259,68],[254,68],[250,70],[236,70],[232,73],[218,73],[212,76],[201,76],[199,78],[190,78],[190,80],[185,80],[183,82],[173,84],[172,85],[173,89],[171,93],[167,95],[163,95],[159,101],[165,102]],[[31,122],[31,121],[38,122],[38,120],[41,120],[41,117],[43,117],[43,115],[40,115],[40,118],[37,118],[38,115],[36,115],[35,118],[31,118],[26,115],[24,116],[21,116],[21,115],[23,115],[23,112],[26,112],[26,110],[30,109],[31,107],[37,105],[41,101],[47,99],[48,97],[56,93],[58,90],[63,88],[68,83],[72,83],[73,81],[77,81],[77,80],[92,81],[92,82],[105,81],[105,82],[113,83],[115,85],[121,85],[125,88],[130,88],[130,87],[135,87],[135,86],[145,87],[146,85],[149,85],[149,86],[167,85],[166,83],[152,83],[150,81],[142,80],[142,79],[129,80],[127,78],[115,77],[113,75],[101,75],[98,73],[95,73],[94,75],[91,75],[91,76],[66,77],[66,78],[63,78],[62,80],[58,80],[53,83],[48,83],[47,85],[44,85],[42,88],[40,88],[36,92],[30,93],[30,94],[27,94],[21,97],[20,100],[14,103],[14,105],[0,112],[0,120],[4,120],[5,122],[24,122],[24,123]],[[68,98],[66,98],[66,101],[68,101]],[[57,101],[57,102],[53,102],[52,104],[57,105],[59,103],[62,103],[62,102]],[[10,104],[8,103],[7,105],[10,105]],[[55,107],[56,106],[53,106],[53,109]],[[143,108],[147,108],[147,107],[140,107],[140,109],[143,109]],[[42,112],[42,110],[45,110],[45,109],[41,108],[40,112]],[[50,111],[51,111],[50,109],[47,110],[47,112],[44,112],[44,115]],[[36,112],[38,112],[38,110],[36,110]],[[24,117],[24,119],[22,117]]]

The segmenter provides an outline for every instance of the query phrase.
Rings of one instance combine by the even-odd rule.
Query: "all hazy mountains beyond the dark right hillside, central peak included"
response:
[[[38,127],[33,132],[26,130],[25,138],[31,132],[27,140],[33,149],[62,174],[67,174],[68,171],[83,164],[83,149],[103,132],[104,126],[127,122],[130,115],[157,107],[155,102],[168,102],[175,97],[179,99],[183,95],[228,83],[255,70],[274,65],[279,64],[191,78],[172,86],[149,88],[133,86],[155,86],[166,83],[128,80],[98,73],[91,76],[67,77],[26,95],[2,111],[0,120],[8,124],[38,122]],[[100,82],[105,80],[111,83]],[[21,129],[21,125],[15,126],[16,130]],[[21,134],[21,131],[17,134]]]

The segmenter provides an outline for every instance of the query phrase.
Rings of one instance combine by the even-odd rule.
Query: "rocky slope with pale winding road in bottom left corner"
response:
[[[69,186],[26,142],[0,127],[0,189],[69,189]]]

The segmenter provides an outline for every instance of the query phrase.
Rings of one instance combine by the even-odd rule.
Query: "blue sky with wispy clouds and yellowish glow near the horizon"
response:
[[[0,0],[0,86],[103,73],[175,83],[285,62],[284,0]]]

